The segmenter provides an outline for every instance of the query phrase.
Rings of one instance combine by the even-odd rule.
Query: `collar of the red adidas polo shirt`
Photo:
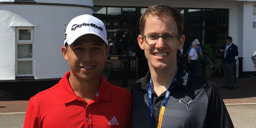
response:
[[[64,104],[73,102],[78,99],[78,96],[70,86],[68,78],[70,77],[70,71],[68,71],[63,78],[59,81],[60,93],[64,100]],[[96,98],[96,102],[99,99],[111,102],[111,83],[109,83],[102,75],[100,75],[100,86],[98,90],[99,96]],[[95,98],[95,97],[94,97]],[[93,98],[93,99],[94,99]],[[98,99],[99,98],[99,99]]]

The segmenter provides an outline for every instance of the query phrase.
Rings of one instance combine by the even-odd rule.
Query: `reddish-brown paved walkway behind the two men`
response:
[[[222,98],[226,105],[238,104],[256,104],[256,81],[253,78],[237,78],[235,89],[228,90],[220,88],[224,85],[223,77],[211,78],[219,87]],[[122,79],[109,80],[111,83],[122,87]],[[131,90],[131,85],[137,81],[136,79],[128,79],[127,90]],[[26,112],[29,101],[0,101],[0,113],[17,113]]]

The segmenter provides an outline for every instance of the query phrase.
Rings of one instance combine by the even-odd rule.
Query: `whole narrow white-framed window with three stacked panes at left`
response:
[[[33,76],[33,28],[16,28],[16,76]]]

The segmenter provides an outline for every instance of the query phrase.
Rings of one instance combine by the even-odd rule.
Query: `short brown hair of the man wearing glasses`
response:
[[[145,22],[148,16],[173,17],[177,23],[177,35],[183,34],[184,16],[178,11],[178,9],[165,5],[155,5],[148,7],[145,13],[140,17],[140,35],[144,34]]]

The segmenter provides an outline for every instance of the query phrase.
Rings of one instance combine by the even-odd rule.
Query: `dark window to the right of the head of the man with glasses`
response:
[[[214,55],[221,58],[218,49],[225,44],[227,37],[228,10],[188,9],[188,14],[185,17],[188,17],[185,47],[189,47],[191,42],[197,38],[200,45],[210,45]]]

